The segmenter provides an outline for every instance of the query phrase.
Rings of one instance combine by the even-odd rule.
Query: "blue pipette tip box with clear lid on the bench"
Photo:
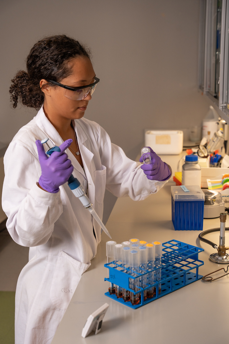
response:
[[[203,230],[204,193],[199,186],[171,186],[175,230]]]

